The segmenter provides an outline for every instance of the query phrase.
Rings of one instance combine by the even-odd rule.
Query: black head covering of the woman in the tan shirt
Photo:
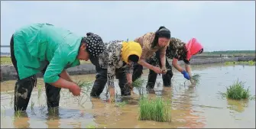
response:
[[[163,29],[164,34],[160,34],[160,30],[162,30],[162,29]],[[166,27],[160,26],[160,27],[158,28],[158,30],[155,32],[154,40],[153,40],[153,42],[151,43],[151,44],[152,44],[152,45],[151,45],[151,48],[154,48],[154,47],[157,46],[159,37],[167,37],[167,38],[170,38],[170,31],[169,31]]]

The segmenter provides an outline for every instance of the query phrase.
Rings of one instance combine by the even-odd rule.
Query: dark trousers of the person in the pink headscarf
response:
[[[160,62],[160,52],[159,51],[156,52],[155,57],[156,57],[155,60],[150,60],[149,63],[153,66],[157,66],[157,64],[162,66],[161,62]],[[166,68],[167,68],[167,73],[162,75],[162,79],[164,82],[164,86],[170,87],[170,85],[171,85],[170,80],[173,77],[173,71],[172,71],[172,67],[170,66],[170,64],[167,61],[167,58],[166,58]],[[149,74],[147,77],[147,89],[154,89],[156,80],[157,80],[157,73],[155,73],[153,70],[149,69]]]

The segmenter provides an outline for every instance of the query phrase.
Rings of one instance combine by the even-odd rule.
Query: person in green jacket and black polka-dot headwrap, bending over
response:
[[[104,50],[102,38],[96,34],[77,36],[52,24],[30,24],[11,37],[11,62],[18,73],[15,84],[15,111],[25,111],[31,92],[37,84],[37,73],[44,74],[47,107],[58,107],[60,89],[80,95],[79,86],[66,69],[99,56]]]

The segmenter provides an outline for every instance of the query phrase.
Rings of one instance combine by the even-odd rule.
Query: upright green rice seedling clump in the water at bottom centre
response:
[[[161,98],[141,98],[139,102],[139,120],[170,122],[170,105]]]

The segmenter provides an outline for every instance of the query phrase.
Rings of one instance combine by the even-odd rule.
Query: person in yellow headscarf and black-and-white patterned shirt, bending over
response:
[[[110,98],[115,95],[115,76],[121,94],[131,95],[128,84],[132,82],[134,63],[138,63],[142,49],[140,44],[134,41],[112,40],[105,43],[105,50],[97,58],[92,59],[96,66],[96,81],[90,95],[99,97],[107,84]]]

